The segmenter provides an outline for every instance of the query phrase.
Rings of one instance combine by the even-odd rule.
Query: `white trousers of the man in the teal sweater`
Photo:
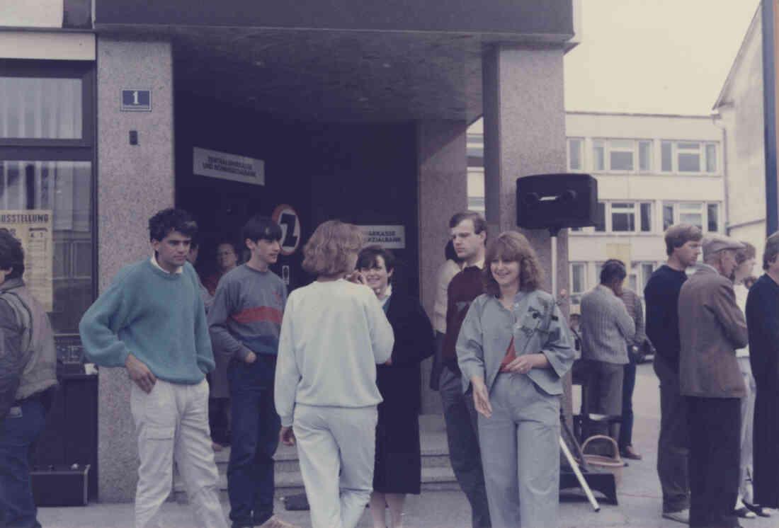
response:
[[[158,512],[171,493],[174,460],[186,484],[195,525],[227,528],[208,426],[208,382],[183,385],[157,379],[149,394],[133,383],[130,411],[141,460],[136,528],[160,526]]]

